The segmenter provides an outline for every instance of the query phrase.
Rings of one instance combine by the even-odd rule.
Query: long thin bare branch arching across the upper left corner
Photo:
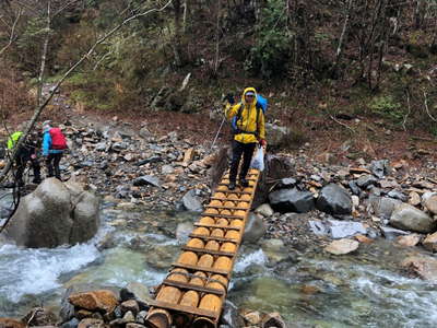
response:
[[[74,65],[72,65],[69,70],[62,75],[62,78],[55,84],[55,86],[52,87],[51,92],[48,94],[48,96],[46,97],[46,99],[39,105],[37,106],[37,108],[34,112],[34,115],[29,121],[29,124],[27,125],[25,131],[23,131],[23,136],[22,138],[20,138],[19,142],[16,143],[13,153],[11,155],[11,160],[8,161],[7,165],[4,166],[4,168],[1,171],[0,173],[0,183],[2,183],[4,180],[4,178],[7,177],[9,171],[12,167],[12,163],[16,157],[17,154],[17,150],[20,149],[20,147],[22,145],[22,143],[24,142],[24,140],[27,138],[28,133],[32,131],[32,129],[35,126],[36,120],[38,119],[39,115],[43,113],[44,108],[48,105],[48,103],[51,101],[51,98],[54,97],[54,95],[57,93],[57,91],[59,90],[59,86],[66,81],[66,79],[80,66],[82,65],[82,62],[87,59],[96,49],[96,47],[98,45],[101,45],[102,43],[104,43],[107,38],[109,38],[113,34],[115,34],[117,31],[119,31],[122,26],[127,25],[128,23],[130,23],[131,21],[141,17],[141,16],[145,16],[149,15],[151,13],[154,12],[162,12],[164,11],[166,8],[168,8],[172,4],[173,0],[168,0],[166,4],[164,4],[162,8],[154,8],[154,9],[150,9],[145,12],[141,12],[138,14],[134,14],[128,19],[126,19],[125,21],[122,21],[120,24],[118,24],[117,26],[115,26],[113,30],[110,30],[108,33],[106,33],[104,36],[102,36],[99,39],[96,40],[96,43],[88,49],[88,51],[82,56],[81,59],[79,59]]]

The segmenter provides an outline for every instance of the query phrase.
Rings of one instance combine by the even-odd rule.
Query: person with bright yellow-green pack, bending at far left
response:
[[[22,131],[16,131],[11,134],[8,139],[8,150],[12,151],[15,148],[15,144],[23,137]],[[27,162],[31,162],[32,168],[34,171],[34,184],[39,184],[40,179],[40,166],[37,157],[37,149],[38,149],[38,140],[34,134],[29,134],[26,140],[21,144],[20,149],[16,152],[15,165],[16,165],[16,174],[15,181],[20,187],[24,186],[23,181],[23,173],[26,168]]]

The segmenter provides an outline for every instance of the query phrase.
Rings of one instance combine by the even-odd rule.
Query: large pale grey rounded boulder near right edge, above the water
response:
[[[402,203],[393,210],[390,225],[418,233],[430,233],[437,227],[433,218],[408,203]]]

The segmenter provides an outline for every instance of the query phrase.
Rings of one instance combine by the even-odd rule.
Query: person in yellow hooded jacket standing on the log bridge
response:
[[[234,105],[233,96],[227,96],[225,116],[234,120],[234,139],[232,143],[233,156],[229,168],[229,190],[236,187],[238,165],[243,155],[243,165],[239,173],[239,185],[248,187],[246,180],[250,161],[257,143],[265,147],[264,113],[257,101],[255,87],[247,87],[243,92],[241,103]]]

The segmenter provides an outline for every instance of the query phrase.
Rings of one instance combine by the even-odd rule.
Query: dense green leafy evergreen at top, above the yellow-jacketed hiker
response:
[[[284,73],[293,37],[293,33],[287,30],[284,1],[267,1],[256,37],[255,46],[245,62],[246,70],[263,78]]]

